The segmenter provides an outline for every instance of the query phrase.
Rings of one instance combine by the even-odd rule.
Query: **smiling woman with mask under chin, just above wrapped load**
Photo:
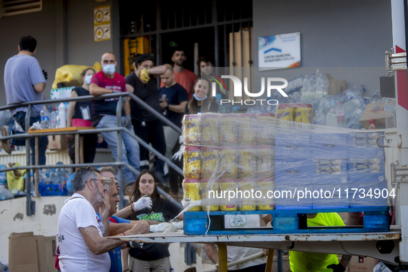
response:
[[[210,82],[205,77],[198,77],[194,84],[193,99],[186,104],[186,115],[197,113],[218,113],[217,103],[208,96]]]

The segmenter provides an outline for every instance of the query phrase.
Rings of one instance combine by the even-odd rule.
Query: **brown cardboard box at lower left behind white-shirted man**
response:
[[[8,266],[13,272],[48,272],[55,269],[56,237],[30,233],[8,236]]]

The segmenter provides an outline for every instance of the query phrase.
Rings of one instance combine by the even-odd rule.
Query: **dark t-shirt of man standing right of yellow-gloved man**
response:
[[[159,98],[167,99],[168,105],[179,105],[183,101],[188,101],[188,93],[183,86],[176,83],[168,88],[166,86],[162,87],[159,92]],[[182,128],[183,113],[175,113],[174,111],[167,110],[164,116],[173,122],[173,124]]]

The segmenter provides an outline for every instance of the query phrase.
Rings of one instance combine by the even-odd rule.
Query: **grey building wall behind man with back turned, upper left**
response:
[[[43,0],[43,10],[0,18],[0,106],[6,105],[3,73],[8,58],[18,53],[19,39],[32,35],[37,39],[38,59],[48,72],[43,97],[50,97],[55,70],[65,64],[93,66],[106,51],[114,52],[120,68],[119,1],[97,3],[93,0]],[[93,8],[111,5],[112,37],[109,41],[94,41]]]

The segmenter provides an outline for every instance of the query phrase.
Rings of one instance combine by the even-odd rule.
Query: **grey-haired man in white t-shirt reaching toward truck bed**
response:
[[[100,172],[93,167],[75,171],[74,194],[65,201],[58,220],[59,269],[61,272],[109,271],[108,251],[126,242],[104,237],[109,230],[99,224],[94,207],[104,204],[101,217],[108,218],[110,202]],[[100,221],[100,220],[99,220]],[[106,224],[105,226],[108,226]],[[116,236],[148,233],[147,222],[138,222]]]

